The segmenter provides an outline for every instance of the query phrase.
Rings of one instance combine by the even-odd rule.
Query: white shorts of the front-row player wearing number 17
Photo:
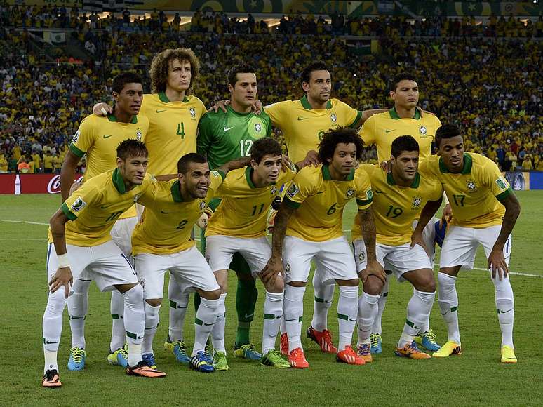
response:
[[[449,226],[441,248],[440,267],[461,265],[462,269],[473,269],[479,244],[483,246],[486,258],[488,258],[501,229],[502,225],[483,229]],[[508,265],[509,258],[511,258],[511,243],[511,235],[509,235],[504,245],[504,258]]]

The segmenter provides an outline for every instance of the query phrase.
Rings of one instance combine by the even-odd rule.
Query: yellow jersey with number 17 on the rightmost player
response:
[[[494,161],[481,154],[464,153],[461,173],[450,173],[438,156],[431,156],[428,164],[453,209],[452,225],[475,229],[502,225],[505,208],[500,201],[513,190]]]

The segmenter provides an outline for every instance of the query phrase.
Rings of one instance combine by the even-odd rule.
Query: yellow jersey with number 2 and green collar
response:
[[[156,182],[140,196],[145,206],[142,218],[132,234],[132,254],[152,253],[167,255],[194,246],[191,231],[200,218],[224,175],[211,171],[211,184],[205,199],[184,202],[179,180]]]

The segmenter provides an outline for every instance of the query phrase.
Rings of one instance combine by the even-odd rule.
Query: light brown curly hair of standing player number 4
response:
[[[186,60],[190,62],[190,91],[194,79],[200,74],[200,61],[198,60],[198,57],[196,57],[194,51],[190,48],[168,48],[161,53],[154,55],[151,62],[151,69],[149,70],[149,76],[151,76],[151,93],[166,91],[166,84],[168,84],[168,69],[170,68],[170,62],[173,60]]]

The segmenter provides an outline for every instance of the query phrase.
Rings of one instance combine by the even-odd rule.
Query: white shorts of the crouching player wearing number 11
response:
[[[256,278],[272,256],[272,246],[264,236],[244,239],[214,234],[206,238],[206,260],[213,272],[229,269],[234,253],[243,256]]]

